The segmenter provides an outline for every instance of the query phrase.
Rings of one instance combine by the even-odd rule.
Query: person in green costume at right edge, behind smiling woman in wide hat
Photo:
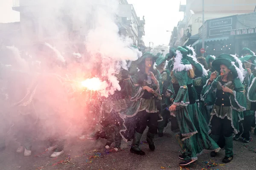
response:
[[[245,86],[245,90],[246,90],[246,96],[248,93],[248,88],[251,85],[252,81],[253,81],[253,73],[252,70],[254,69],[254,65],[252,65],[252,63],[255,61],[256,56],[251,56],[251,55],[247,55],[245,57],[240,58],[241,62],[243,63],[244,69],[246,70],[244,72],[244,86]],[[244,143],[248,143],[250,141],[250,130],[251,130],[251,125],[253,124],[253,120],[255,120],[254,118],[254,111],[256,110],[256,108],[252,107],[252,103],[249,101],[249,99],[247,98],[246,101],[246,111],[244,111],[244,120],[242,121],[242,124],[240,122],[240,129],[244,129],[244,132],[242,133],[242,131],[240,131],[238,134],[236,134],[235,136],[235,140],[239,140],[239,137],[241,135],[241,137],[243,138],[243,142]]]

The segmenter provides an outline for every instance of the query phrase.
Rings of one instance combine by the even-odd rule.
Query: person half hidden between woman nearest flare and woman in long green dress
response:
[[[162,110],[161,110],[161,116],[163,117],[163,121],[159,122],[158,124],[158,136],[163,137],[163,129],[168,124],[168,119],[171,117],[170,112],[166,110],[167,106],[170,104],[170,99],[165,97],[165,93],[170,85],[171,76],[170,71],[168,69],[165,69],[166,65],[166,57],[163,57],[160,55],[156,60],[157,70],[160,72],[163,82],[163,91],[162,91]]]

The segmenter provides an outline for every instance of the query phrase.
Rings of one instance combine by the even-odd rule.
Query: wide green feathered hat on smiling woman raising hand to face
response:
[[[237,60],[239,60],[236,56],[231,56],[230,54],[221,54],[218,57],[216,57],[216,59],[212,62],[212,67],[218,71],[220,73],[220,66],[221,65],[226,65],[228,69],[230,69],[230,71],[233,74],[234,78],[239,78],[241,82],[244,81],[244,77],[243,77],[243,71],[244,69],[242,68],[242,70],[237,66],[239,65],[237,63]],[[240,60],[239,60],[240,61]],[[240,61],[241,62],[241,61]]]

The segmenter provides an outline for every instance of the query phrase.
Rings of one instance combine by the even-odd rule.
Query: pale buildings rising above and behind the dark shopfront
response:
[[[170,40],[174,47],[191,45],[198,40],[199,28],[202,26],[202,0],[186,0],[186,5],[180,5],[184,18],[177,24],[177,38]],[[227,17],[235,14],[253,12],[255,0],[204,0],[205,20]]]

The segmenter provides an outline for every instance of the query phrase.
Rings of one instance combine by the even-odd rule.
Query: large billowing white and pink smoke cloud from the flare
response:
[[[90,96],[90,91],[85,91],[90,97],[81,95],[84,90],[82,82],[88,80],[87,83],[92,85],[101,84],[103,88],[99,88],[97,93],[108,97],[121,90],[116,75],[122,68],[128,69],[126,61],[135,61],[141,54],[129,48],[131,40],[119,37],[115,24],[117,0],[38,0],[34,3],[39,5],[26,7],[26,14],[22,16],[33,18],[30,21],[34,22],[35,31],[21,23],[25,28],[23,39],[16,44],[21,50],[25,48],[27,56],[31,57],[20,54],[15,47],[7,47],[12,52],[6,57],[13,58],[16,63],[3,62],[4,65],[12,65],[1,73],[6,74],[4,81],[14,82],[12,86],[7,83],[1,87],[9,89],[2,92],[9,97],[5,113],[12,110],[10,119],[16,120],[20,119],[15,112],[17,109],[19,113],[28,109],[32,122],[44,126],[40,130],[42,139],[60,131],[77,136],[81,131],[84,103],[90,100],[97,103],[97,99]],[[82,34],[83,40],[70,40],[67,33],[73,30]],[[81,60],[76,61],[78,58],[74,56]],[[13,67],[16,64],[19,69]],[[95,77],[97,81],[94,81]],[[29,108],[14,107],[16,102],[28,103],[26,106]],[[18,126],[19,121],[14,122]]]

